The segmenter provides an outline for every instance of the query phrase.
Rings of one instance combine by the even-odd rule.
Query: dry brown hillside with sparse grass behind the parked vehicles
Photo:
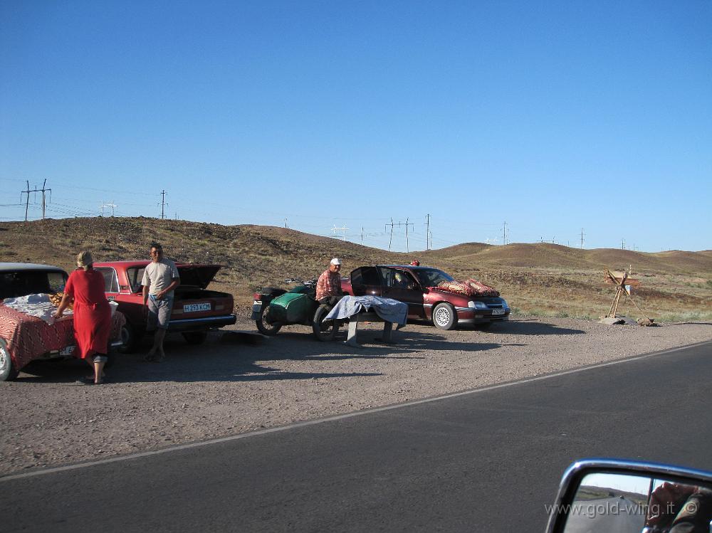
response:
[[[632,277],[642,283],[633,296],[647,316],[658,321],[712,320],[712,250],[642,253],[548,243],[464,243],[404,254],[271,226],[96,217],[0,223],[0,261],[70,270],[83,248],[92,250],[98,261],[148,258],[151,241],[162,243],[175,260],[224,265],[211,287],[232,292],[239,312],[247,312],[254,290],[284,285],[285,278],[313,278],[338,255],[345,273],[365,264],[418,259],[456,278],[493,285],[515,310],[560,317],[605,315],[614,289],[604,283],[604,269],[632,267]],[[621,312],[641,316],[629,302]]]

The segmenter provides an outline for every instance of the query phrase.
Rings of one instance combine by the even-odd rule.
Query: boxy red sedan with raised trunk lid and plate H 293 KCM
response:
[[[122,329],[124,350],[135,350],[146,331],[141,280],[147,260],[111,261],[94,263],[95,270],[104,275],[108,300],[119,305],[126,316]],[[227,292],[207,290],[220,265],[176,263],[180,285],[175,290],[169,332],[181,332],[190,344],[200,344],[209,329],[234,324],[234,300]]]

